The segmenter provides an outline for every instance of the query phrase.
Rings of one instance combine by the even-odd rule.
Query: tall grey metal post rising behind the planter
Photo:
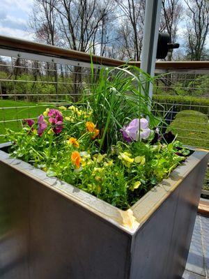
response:
[[[154,76],[157,53],[157,40],[160,28],[160,13],[162,0],[146,0],[144,32],[141,52],[141,70]],[[153,85],[146,84],[146,92],[150,98],[153,95]],[[146,93],[144,92],[144,93]]]

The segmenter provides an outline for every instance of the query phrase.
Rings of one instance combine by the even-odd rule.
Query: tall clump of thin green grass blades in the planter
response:
[[[156,126],[158,120],[150,113],[151,100],[146,91],[149,81],[153,79],[134,66],[102,68],[97,79],[93,76],[91,96],[84,93],[81,101],[93,110],[93,122],[102,131],[100,151],[116,144],[118,130],[132,119],[148,117],[150,126]]]

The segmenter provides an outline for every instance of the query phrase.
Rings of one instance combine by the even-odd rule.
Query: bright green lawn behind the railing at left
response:
[[[8,121],[16,119],[37,118],[48,105],[42,103],[29,103],[25,101],[0,100],[0,135],[5,133],[5,128],[18,131],[22,128],[21,121]],[[1,122],[3,121],[3,122]],[[0,137],[0,142],[3,142]]]

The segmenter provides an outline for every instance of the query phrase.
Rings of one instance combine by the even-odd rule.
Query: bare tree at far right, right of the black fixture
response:
[[[185,0],[187,4],[187,57],[203,60],[206,54],[206,38],[209,25],[208,0]]]

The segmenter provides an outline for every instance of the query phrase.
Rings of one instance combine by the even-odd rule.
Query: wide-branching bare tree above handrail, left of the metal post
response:
[[[111,13],[112,0],[101,3],[98,0],[57,0],[54,6],[59,15],[59,34],[65,47],[88,52],[100,45],[99,31],[107,24]],[[104,44],[104,40],[102,42]],[[107,43],[107,42],[105,42]]]

